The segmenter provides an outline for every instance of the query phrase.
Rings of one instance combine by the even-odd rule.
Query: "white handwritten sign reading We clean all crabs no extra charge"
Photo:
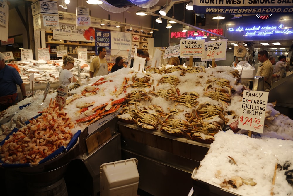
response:
[[[181,39],[180,41],[180,57],[196,58],[204,57],[205,40]]]

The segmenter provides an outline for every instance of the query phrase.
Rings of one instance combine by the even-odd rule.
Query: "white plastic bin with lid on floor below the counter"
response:
[[[126,159],[100,166],[100,196],[136,196],[139,174],[137,159]]]

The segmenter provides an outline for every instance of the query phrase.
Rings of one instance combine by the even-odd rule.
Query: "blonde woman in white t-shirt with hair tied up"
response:
[[[67,54],[62,56],[63,66],[59,71],[59,83],[61,86],[68,86],[71,82],[76,82],[76,78],[73,76],[70,69],[74,66],[74,58]]]

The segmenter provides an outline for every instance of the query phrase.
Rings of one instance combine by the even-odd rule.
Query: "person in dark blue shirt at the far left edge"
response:
[[[22,98],[25,99],[25,86],[18,71],[6,65],[4,55],[0,53],[0,111],[6,110],[18,100],[16,85],[19,85]]]

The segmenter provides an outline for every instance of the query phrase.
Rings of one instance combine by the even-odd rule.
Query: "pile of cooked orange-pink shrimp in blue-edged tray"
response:
[[[31,163],[38,162],[59,147],[66,147],[72,138],[71,128],[74,123],[64,110],[59,110],[55,101],[45,108],[42,115],[13,133],[0,146],[0,158],[3,163]]]

